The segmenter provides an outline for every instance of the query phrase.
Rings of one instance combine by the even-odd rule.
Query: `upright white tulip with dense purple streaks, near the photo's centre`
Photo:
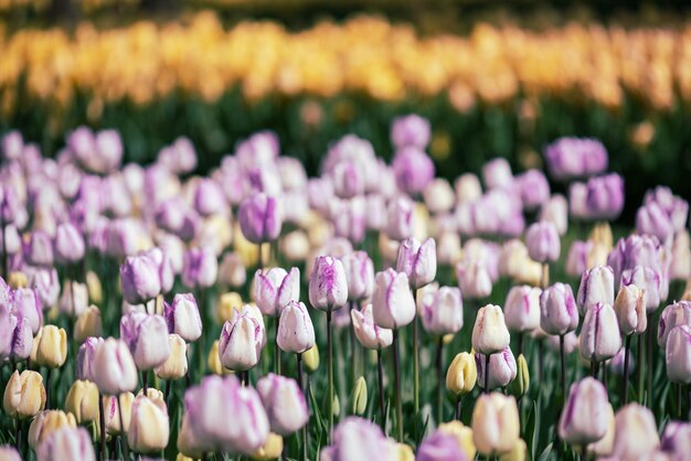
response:
[[[315,309],[331,311],[348,302],[348,279],[340,259],[318,256],[309,277],[309,303]]]

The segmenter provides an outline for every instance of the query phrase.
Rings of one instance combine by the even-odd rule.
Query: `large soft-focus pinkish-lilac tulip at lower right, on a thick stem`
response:
[[[581,447],[602,439],[607,432],[607,390],[593,377],[571,385],[568,399],[559,422],[559,437]]]

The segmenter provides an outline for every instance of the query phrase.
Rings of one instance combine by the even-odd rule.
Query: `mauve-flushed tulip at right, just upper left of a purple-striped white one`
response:
[[[556,282],[540,296],[540,328],[546,334],[562,335],[578,326],[578,310],[571,286]]]

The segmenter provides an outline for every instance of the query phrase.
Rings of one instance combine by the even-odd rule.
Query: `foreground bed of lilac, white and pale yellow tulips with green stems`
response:
[[[123,167],[115,130],[78,128],[54,159],[6,133],[0,435],[14,448],[1,448],[2,459],[32,455],[24,441],[40,461],[131,451],[684,459],[691,302],[659,308],[691,276],[688,203],[657,186],[635,232],[614,245],[607,222],[621,212],[624,181],[606,172],[598,141],[563,138],[545,150],[566,197],[542,171],[514,175],[504,159],[487,163],[482,181],[466,173],[451,186],[435,178],[429,138],[424,118],[395,119],[386,164],[366,140],[344,136],[308,179],[269,131],[241,141],[208,176],[192,174],[185,138],[153,164]],[[561,258],[570,217],[598,224]],[[567,277],[581,278],[575,296]],[[326,324],[312,320],[318,311]],[[325,343],[327,369],[316,373]],[[545,343],[559,351],[559,379]],[[429,346],[436,374],[421,377]],[[445,349],[455,353],[448,368]],[[368,397],[370,363],[379,405]],[[546,406],[561,410],[548,422]]]

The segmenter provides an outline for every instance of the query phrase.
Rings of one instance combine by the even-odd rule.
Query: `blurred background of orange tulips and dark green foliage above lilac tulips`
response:
[[[79,125],[117,128],[142,163],[187,136],[203,172],[272,129],[313,174],[348,132],[390,158],[392,119],[417,112],[449,179],[498,156],[541,168],[555,138],[595,137],[632,221],[656,184],[691,196],[690,13],[682,0],[0,0],[0,132],[55,154]]]

